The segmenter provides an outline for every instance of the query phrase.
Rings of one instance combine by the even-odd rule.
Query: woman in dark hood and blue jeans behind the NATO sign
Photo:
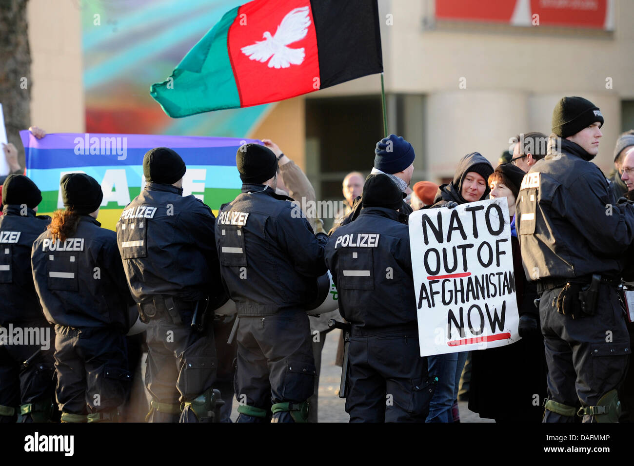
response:
[[[448,207],[484,200],[488,197],[487,179],[493,165],[480,153],[472,152],[460,159],[453,181],[438,188],[434,207]],[[429,405],[427,422],[453,422],[451,408],[458,397],[460,374],[469,353],[448,353],[429,356],[429,375],[438,377],[436,392]]]

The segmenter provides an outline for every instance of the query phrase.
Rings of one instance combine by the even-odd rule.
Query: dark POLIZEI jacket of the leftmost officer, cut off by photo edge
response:
[[[51,217],[20,205],[5,205],[0,216],[0,324],[44,320],[33,285],[31,248]],[[24,214],[24,215],[22,215]]]

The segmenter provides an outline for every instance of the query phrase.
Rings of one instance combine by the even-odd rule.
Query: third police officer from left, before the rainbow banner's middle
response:
[[[213,309],[226,296],[214,243],[216,219],[193,195],[183,197],[185,171],[173,150],[149,150],[143,158],[147,184],[117,223],[127,280],[148,323],[149,422],[212,422],[219,396],[213,389]]]

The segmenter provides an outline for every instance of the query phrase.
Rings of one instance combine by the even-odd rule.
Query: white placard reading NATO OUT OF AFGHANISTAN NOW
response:
[[[519,340],[507,198],[417,210],[408,223],[420,355]]]

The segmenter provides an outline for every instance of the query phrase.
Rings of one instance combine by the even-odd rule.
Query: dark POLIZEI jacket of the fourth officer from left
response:
[[[328,236],[313,228],[292,198],[243,184],[216,222],[221,274],[238,316],[304,309],[315,278],[326,273]]]

